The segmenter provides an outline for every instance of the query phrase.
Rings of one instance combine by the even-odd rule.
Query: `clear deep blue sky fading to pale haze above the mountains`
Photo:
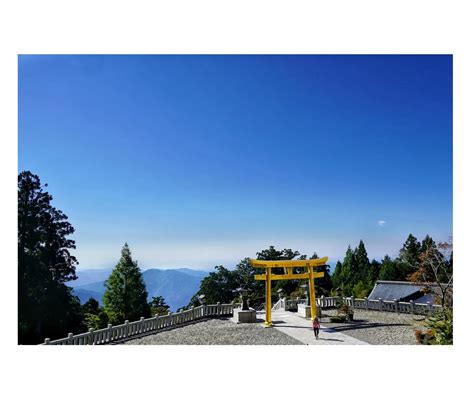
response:
[[[142,269],[210,269],[452,236],[451,56],[20,55],[18,80],[18,170],[79,270],[125,242]]]

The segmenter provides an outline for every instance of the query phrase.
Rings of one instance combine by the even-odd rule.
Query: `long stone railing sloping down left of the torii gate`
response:
[[[49,338],[44,340],[41,345],[102,345],[111,342],[131,339],[134,336],[159,332],[172,327],[177,327],[192,321],[221,316],[232,316],[234,306],[232,304],[201,305],[177,313],[169,313],[164,316],[151,317],[149,319],[141,318],[138,321],[125,321],[124,324],[112,326],[101,330],[90,329],[86,333],[73,335],[70,333],[66,338],[51,341]]]

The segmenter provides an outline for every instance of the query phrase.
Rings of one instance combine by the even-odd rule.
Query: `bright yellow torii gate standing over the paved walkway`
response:
[[[255,280],[265,280],[265,327],[272,325],[272,280],[309,280],[309,300],[311,306],[311,320],[316,317],[316,292],[314,279],[324,277],[324,272],[315,272],[313,267],[326,264],[328,257],[308,260],[258,260],[250,259],[253,267],[265,268],[265,274],[257,274]],[[274,267],[284,267],[285,274],[272,274]],[[293,273],[294,267],[306,267],[307,272],[301,274]]]

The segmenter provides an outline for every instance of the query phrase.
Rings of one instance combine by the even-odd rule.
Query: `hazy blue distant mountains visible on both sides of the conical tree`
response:
[[[96,299],[102,305],[105,292],[105,281],[112,273],[112,269],[88,269],[76,272],[77,280],[68,282],[73,287],[74,295],[81,303],[90,298]],[[189,303],[191,297],[199,290],[201,280],[210,271],[193,269],[148,269],[142,272],[143,280],[148,291],[148,300],[161,295],[175,311]]]

